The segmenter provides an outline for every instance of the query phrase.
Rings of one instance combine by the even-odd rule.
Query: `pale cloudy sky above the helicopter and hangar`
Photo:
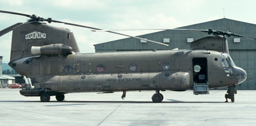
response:
[[[171,29],[224,17],[256,24],[255,0],[0,0],[0,3],[1,11],[35,14],[99,29]],[[26,16],[0,13],[0,30],[27,19]],[[81,53],[94,53],[94,44],[128,38],[61,23],[47,24],[70,29]],[[138,36],[157,31],[117,32]],[[10,62],[11,38],[12,32],[0,37],[0,56],[4,56],[4,63]]]

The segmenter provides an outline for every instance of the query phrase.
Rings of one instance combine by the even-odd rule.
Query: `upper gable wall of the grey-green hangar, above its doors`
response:
[[[212,20],[204,23],[188,25],[184,27],[179,27],[180,29],[208,29],[217,31],[232,31],[234,34],[248,36],[256,38],[256,25],[251,23],[245,23],[237,20],[231,19],[218,19]],[[139,35],[139,38],[147,38],[156,42],[163,42],[163,38],[169,38],[170,43],[168,46],[163,46],[161,44],[156,44],[152,42],[140,43],[139,39],[135,38],[125,38],[120,40],[114,40],[111,42],[95,44],[95,52],[115,52],[115,51],[129,51],[129,50],[172,50],[174,48],[179,49],[189,49],[190,43],[187,42],[188,38],[193,38],[193,40],[200,39],[202,37],[208,36],[208,34],[203,32],[193,32],[193,31],[181,31],[181,30],[165,30],[154,32],[145,35]],[[229,43],[229,50],[256,50],[255,40],[249,40],[241,38],[240,43],[234,43],[234,36],[227,37]]]

